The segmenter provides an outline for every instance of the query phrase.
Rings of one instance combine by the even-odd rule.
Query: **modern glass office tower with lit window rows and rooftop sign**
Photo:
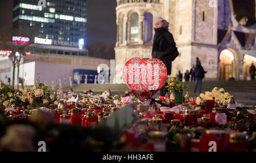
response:
[[[86,0],[45,1],[46,7],[39,0],[14,0],[13,27],[36,33],[32,43],[79,48],[81,39],[86,42]]]

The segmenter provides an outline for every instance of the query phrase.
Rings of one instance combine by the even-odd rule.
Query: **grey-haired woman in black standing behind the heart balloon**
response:
[[[167,74],[171,75],[172,61],[179,55],[174,37],[169,31],[169,23],[163,18],[156,18],[155,36],[152,48],[152,58],[160,59],[167,68]],[[167,83],[160,89],[160,96],[165,96]]]

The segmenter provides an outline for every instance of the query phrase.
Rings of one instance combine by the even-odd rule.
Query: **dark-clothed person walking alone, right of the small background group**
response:
[[[195,77],[196,77],[195,91],[194,91],[195,93],[196,93],[197,86],[199,86],[199,93],[201,93],[202,80],[204,79],[206,73],[207,71],[204,71],[203,66],[201,66],[200,60],[197,59],[196,68],[195,68]]]

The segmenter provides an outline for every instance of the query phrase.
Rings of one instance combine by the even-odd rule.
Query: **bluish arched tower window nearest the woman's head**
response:
[[[150,42],[152,41],[153,36],[153,15],[150,12],[147,12],[144,15],[143,22],[143,41]]]

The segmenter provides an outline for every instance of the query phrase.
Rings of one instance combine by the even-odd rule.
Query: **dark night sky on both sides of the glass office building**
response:
[[[116,0],[87,0],[87,44],[103,43],[113,46],[116,42]],[[12,28],[12,0],[0,0],[0,28]]]

